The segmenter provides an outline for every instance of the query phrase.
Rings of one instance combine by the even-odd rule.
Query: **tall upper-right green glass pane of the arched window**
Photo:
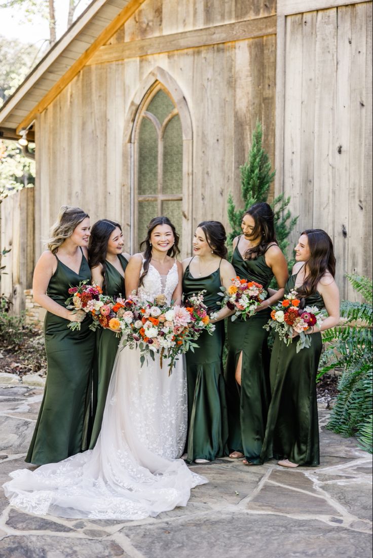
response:
[[[179,114],[170,120],[163,136],[163,181],[164,194],[183,192],[183,133]]]

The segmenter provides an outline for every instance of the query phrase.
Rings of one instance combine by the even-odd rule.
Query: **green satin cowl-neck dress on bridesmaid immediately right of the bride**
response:
[[[186,268],[183,294],[187,298],[199,291],[204,304],[217,311],[221,301],[220,266],[207,277],[193,277]],[[219,321],[213,335],[207,331],[197,340],[198,348],[186,353],[186,379],[188,383],[188,462],[195,459],[213,461],[227,455],[227,406],[222,368],[224,323]]]

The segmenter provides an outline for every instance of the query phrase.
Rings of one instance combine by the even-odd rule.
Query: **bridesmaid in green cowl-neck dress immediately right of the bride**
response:
[[[213,335],[204,332],[194,352],[186,353],[186,381],[188,384],[188,441],[186,444],[189,463],[208,463],[227,455],[227,406],[222,368],[224,344],[223,318],[227,309],[217,302],[220,287],[231,285],[235,270],[225,259],[226,232],[217,221],[200,223],[194,234],[192,258],[183,262],[184,299],[206,291],[204,304],[218,312]],[[220,321],[221,320],[221,321]],[[215,320],[214,320],[215,321]]]

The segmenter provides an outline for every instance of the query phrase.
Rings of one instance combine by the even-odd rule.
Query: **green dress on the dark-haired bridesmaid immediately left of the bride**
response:
[[[128,261],[122,254],[119,254],[118,258],[124,273]],[[124,278],[108,261],[106,261],[104,294],[126,296]],[[120,339],[109,329],[98,328],[96,330],[96,354],[93,365],[93,427],[89,449],[94,448],[101,431],[102,416],[119,341]]]

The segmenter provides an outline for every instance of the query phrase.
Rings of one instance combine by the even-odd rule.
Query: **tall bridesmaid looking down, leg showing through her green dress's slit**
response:
[[[257,203],[242,218],[243,235],[233,241],[235,275],[256,281],[265,290],[272,277],[280,287],[248,318],[228,319],[226,385],[229,424],[229,457],[261,465],[262,442],[270,402],[268,332],[263,329],[269,306],[284,293],[288,267],[276,244],[274,215],[266,203]]]

